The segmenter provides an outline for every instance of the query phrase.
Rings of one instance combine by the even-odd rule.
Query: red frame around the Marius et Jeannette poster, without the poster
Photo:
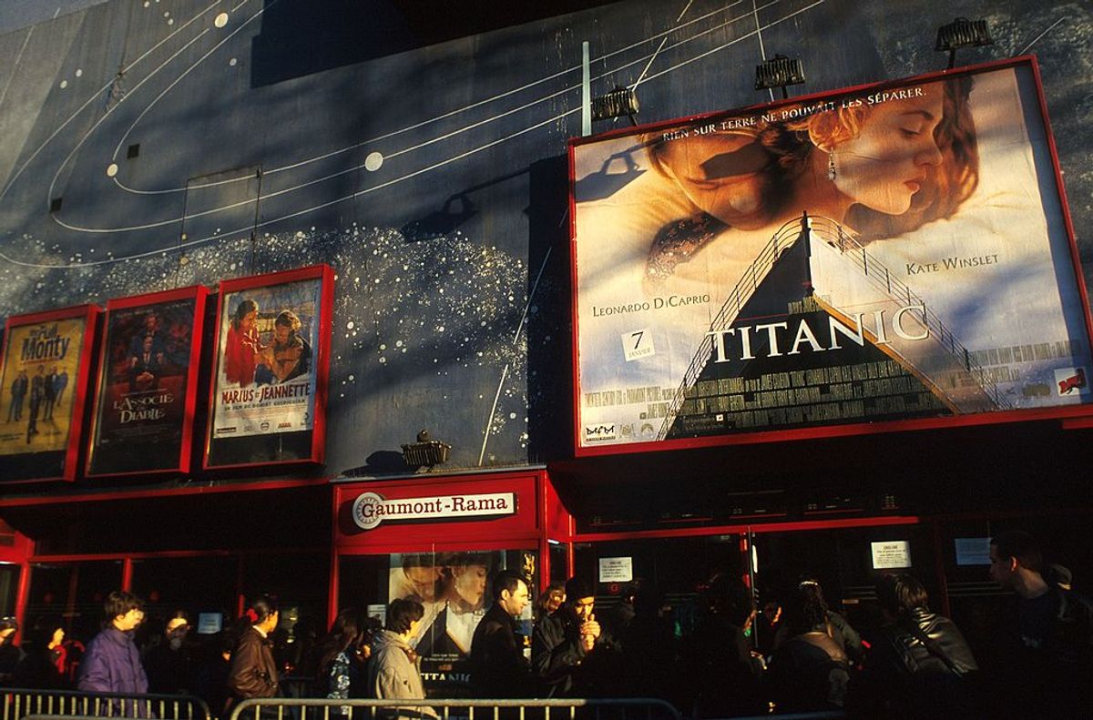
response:
[[[271,287],[303,280],[318,280],[319,290],[319,311],[316,343],[313,347],[314,371],[315,371],[315,420],[312,427],[310,455],[307,458],[291,460],[269,460],[265,462],[238,462],[225,464],[210,464],[209,453],[214,440],[212,437],[215,420],[216,399],[216,374],[220,368],[221,354],[220,329],[224,319],[224,297],[228,293],[236,293],[245,290],[258,287]],[[293,270],[283,270],[261,275],[250,275],[248,278],[236,278],[234,280],[222,280],[219,286],[219,297],[216,299],[216,320],[213,326],[213,353],[212,353],[212,375],[209,380],[209,417],[205,423],[205,441],[202,457],[202,468],[204,470],[230,470],[244,468],[262,468],[268,465],[299,465],[299,464],[322,464],[326,460],[326,410],[328,396],[328,379],[330,375],[330,334],[333,323],[333,293],[334,273],[328,264],[308,265]]]

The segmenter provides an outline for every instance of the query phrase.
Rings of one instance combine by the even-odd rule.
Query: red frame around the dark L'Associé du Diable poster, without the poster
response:
[[[129,475],[163,475],[175,473],[188,473],[191,469],[191,455],[193,447],[193,422],[195,410],[198,398],[198,373],[201,366],[202,335],[204,329],[205,302],[209,297],[209,288],[204,285],[192,285],[189,287],[178,287],[175,290],[162,291],[157,293],[145,293],[143,295],[132,295],[129,297],[111,298],[106,302],[106,315],[103,321],[103,342],[98,352],[98,366],[95,375],[95,386],[93,396],[93,411],[91,416],[91,427],[87,433],[86,457],[84,458],[84,477],[125,477]],[[174,468],[162,470],[134,470],[128,472],[101,472],[93,473],[91,470],[92,455],[95,451],[95,430],[98,424],[98,402],[103,387],[103,368],[106,363],[106,354],[109,349],[106,346],[109,333],[110,312],[133,307],[144,307],[172,303],[174,300],[193,299],[193,324],[190,329],[190,359],[186,374],[186,397],[183,406],[183,441],[179,450],[178,462]]]

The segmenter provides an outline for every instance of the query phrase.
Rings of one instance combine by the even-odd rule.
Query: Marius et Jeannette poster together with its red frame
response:
[[[204,468],[324,461],[333,271],[220,284]]]

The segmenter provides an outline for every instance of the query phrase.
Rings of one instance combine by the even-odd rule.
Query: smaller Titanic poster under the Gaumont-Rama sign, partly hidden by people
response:
[[[392,554],[388,602],[412,598],[425,609],[410,645],[422,660],[426,691],[438,697],[466,697],[474,630],[490,609],[489,578],[513,568],[536,578],[536,554],[520,551]],[[530,647],[532,606],[517,619]]]

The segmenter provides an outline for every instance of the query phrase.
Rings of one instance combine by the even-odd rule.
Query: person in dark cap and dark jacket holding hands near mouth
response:
[[[586,661],[601,652],[606,638],[596,619],[596,591],[583,578],[565,583],[565,602],[542,617],[531,636],[531,669],[550,697],[579,696],[593,684]]]

